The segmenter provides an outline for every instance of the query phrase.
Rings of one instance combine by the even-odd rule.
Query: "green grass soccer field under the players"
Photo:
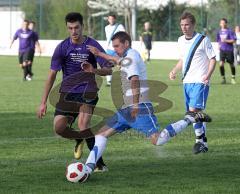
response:
[[[23,82],[17,57],[0,57],[0,193],[240,193],[239,76],[237,85],[220,85],[215,71],[207,104],[213,117],[208,153],[192,154],[192,127],[163,147],[129,131],[108,142],[104,159],[109,172],[72,184],[65,179],[65,168],[74,161],[74,142],[53,132],[51,105],[43,120],[36,118],[49,63],[50,58],[36,57],[33,81]],[[173,102],[169,110],[157,114],[161,128],[184,113],[180,78],[168,80],[174,63],[148,64],[149,79],[166,83],[169,87],[161,97]],[[228,66],[226,70],[229,83]],[[98,106],[114,110],[111,102],[110,88],[103,85]],[[94,117],[93,122],[98,120]],[[89,153],[86,147],[83,162]]]

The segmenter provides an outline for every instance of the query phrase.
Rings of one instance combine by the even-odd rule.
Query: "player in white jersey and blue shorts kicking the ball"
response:
[[[157,118],[148,97],[146,65],[138,51],[131,48],[131,38],[126,32],[117,32],[113,37],[113,47],[118,56],[113,57],[100,52],[93,46],[90,51],[99,57],[120,63],[123,106],[118,110],[95,135],[95,145],[86,161],[89,173],[93,171],[96,161],[105,150],[107,138],[133,128],[150,137],[154,145],[165,141],[165,131],[159,131]],[[188,114],[184,119],[167,126],[173,135],[197,121],[209,121],[208,115]],[[165,136],[164,136],[165,137]]]

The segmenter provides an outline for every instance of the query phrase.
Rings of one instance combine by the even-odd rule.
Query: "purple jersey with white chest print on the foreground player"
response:
[[[90,37],[86,37],[82,44],[73,44],[71,39],[67,38],[56,47],[50,68],[55,71],[62,70],[63,72],[60,92],[84,93],[98,90],[95,76],[89,76],[89,73],[83,72],[81,64],[86,61],[92,64],[95,69],[97,63],[101,68],[111,67],[111,64],[101,57],[95,57],[87,49],[87,45],[94,46],[101,52],[105,52],[101,45]]]

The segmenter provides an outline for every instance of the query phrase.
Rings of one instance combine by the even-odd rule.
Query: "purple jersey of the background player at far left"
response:
[[[13,39],[19,38],[19,52],[23,53],[31,49],[31,42],[34,41],[35,36],[32,30],[19,29],[16,31]]]

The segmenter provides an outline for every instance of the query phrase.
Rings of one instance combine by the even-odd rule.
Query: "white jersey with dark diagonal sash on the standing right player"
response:
[[[187,40],[185,35],[178,38],[180,59],[183,61],[183,74],[186,68],[186,60],[189,57],[192,45],[198,36],[200,36],[200,34],[196,33],[191,40]],[[183,80],[183,83],[203,83],[202,79],[208,72],[209,61],[215,56],[216,55],[210,40],[205,37],[195,51],[190,68]]]

